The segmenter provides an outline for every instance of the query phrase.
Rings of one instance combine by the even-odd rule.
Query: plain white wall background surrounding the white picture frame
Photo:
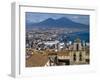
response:
[[[15,0],[1,0],[0,2],[0,80],[14,80],[14,78],[10,77],[10,64],[11,64],[11,2]],[[16,0],[19,1],[19,0]],[[22,0],[21,0],[22,1]],[[23,0],[24,1],[24,0]],[[49,76],[40,76],[33,78],[18,78],[18,80],[99,80],[100,74],[100,53],[99,53],[99,43],[100,43],[100,5],[99,0],[26,0],[32,1],[33,4],[47,4],[47,5],[67,5],[67,4],[78,4],[85,6],[96,6],[97,11],[97,35],[95,38],[97,39],[96,50],[98,52],[97,57],[97,73],[82,73],[82,74],[68,74],[57,76],[54,75],[52,77]]]

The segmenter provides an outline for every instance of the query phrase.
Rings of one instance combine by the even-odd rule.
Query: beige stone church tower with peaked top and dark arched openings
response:
[[[70,51],[70,64],[84,64],[85,53],[81,40],[77,38],[73,43],[73,50]]]

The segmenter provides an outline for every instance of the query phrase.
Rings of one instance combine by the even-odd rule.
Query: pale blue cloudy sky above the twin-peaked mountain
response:
[[[26,12],[25,17],[28,23],[38,23],[48,18],[59,19],[66,17],[74,22],[89,24],[89,15]]]

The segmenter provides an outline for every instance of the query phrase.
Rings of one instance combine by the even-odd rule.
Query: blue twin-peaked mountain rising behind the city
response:
[[[78,28],[78,29],[88,29],[89,25],[81,24],[81,23],[76,23],[68,18],[62,17],[59,19],[52,19],[48,18],[44,21],[41,21],[39,23],[28,23],[26,22],[26,27],[27,28]]]

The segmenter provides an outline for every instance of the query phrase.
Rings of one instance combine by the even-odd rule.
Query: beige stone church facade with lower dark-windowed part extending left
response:
[[[59,56],[58,54],[52,54],[51,56],[49,56],[49,66],[60,64],[89,64],[89,49],[86,49],[86,46],[81,42],[79,38],[77,38],[74,41],[73,45],[71,45],[71,48],[68,50],[68,53],[66,54],[68,55]]]

